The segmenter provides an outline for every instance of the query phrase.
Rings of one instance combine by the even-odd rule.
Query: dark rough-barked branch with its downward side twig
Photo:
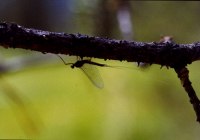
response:
[[[173,41],[135,42],[90,37],[81,34],[55,33],[0,22],[0,45],[42,53],[76,55],[102,59],[145,62],[174,68],[200,122],[200,101],[189,80],[187,64],[200,59],[200,43],[176,44]]]

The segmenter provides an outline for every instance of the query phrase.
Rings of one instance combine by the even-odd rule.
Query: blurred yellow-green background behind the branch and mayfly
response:
[[[200,2],[0,0],[0,20],[55,32],[177,43],[200,40]],[[96,62],[98,89],[53,54],[0,49],[0,138],[68,140],[197,140],[200,126],[172,69]],[[75,59],[63,56],[67,62]],[[199,62],[188,66],[199,94]],[[199,94],[200,96],[200,94]]]

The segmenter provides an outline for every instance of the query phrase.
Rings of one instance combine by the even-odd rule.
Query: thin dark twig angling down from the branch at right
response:
[[[189,79],[189,70],[186,67],[174,68],[178,74],[181,84],[183,85],[185,91],[188,93],[190,98],[190,103],[193,105],[194,111],[197,116],[197,121],[200,123],[200,101],[192,87],[192,83]]]

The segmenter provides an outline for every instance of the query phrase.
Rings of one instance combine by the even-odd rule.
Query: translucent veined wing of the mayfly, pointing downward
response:
[[[87,75],[87,77],[96,87],[98,88],[104,87],[101,75],[98,69],[94,65],[85,63],[82,67],[80,67],[80,69],[83,70],[83,72]]]

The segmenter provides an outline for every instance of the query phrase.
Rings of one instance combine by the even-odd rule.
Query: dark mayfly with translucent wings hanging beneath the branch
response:
[[[58,55],[58,57],[60,56]],[[63,61],[65,65],[71,64],[71,68],[75,68],[75,67],[80,68],[96,87],[98,88],[104,87],[103,80],[99,74],[98,69],[95,66],[99,66],[99,67],[111,67],[111,66],[108,66],[106,64],[96,63],[96,62],[91,61],[90,59],[77,60],[75,63],[66,63],[62,59],[62,57],[60,57],[60,59]]]

